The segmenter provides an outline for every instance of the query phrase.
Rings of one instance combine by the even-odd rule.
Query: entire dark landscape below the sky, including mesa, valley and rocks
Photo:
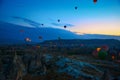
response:
[[[1,46],[0,80],[120,80],[120,42],[55,40]]]

